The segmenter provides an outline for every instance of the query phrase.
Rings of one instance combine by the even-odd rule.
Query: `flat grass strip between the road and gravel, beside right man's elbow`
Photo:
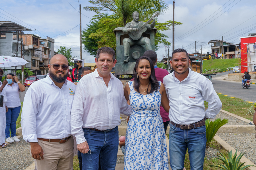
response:
[[[252,103],[245,102],[239,98],[223,96],[222,94],[218,94],[218,96],[222,102],[222,110],[226,110],[230,113],[244,117],[245,119],[252,120],[252,115],[246,115],[248,112],[247,108],[251,107]],[[208,102],[204,101],[204,106],[208,107]]]

